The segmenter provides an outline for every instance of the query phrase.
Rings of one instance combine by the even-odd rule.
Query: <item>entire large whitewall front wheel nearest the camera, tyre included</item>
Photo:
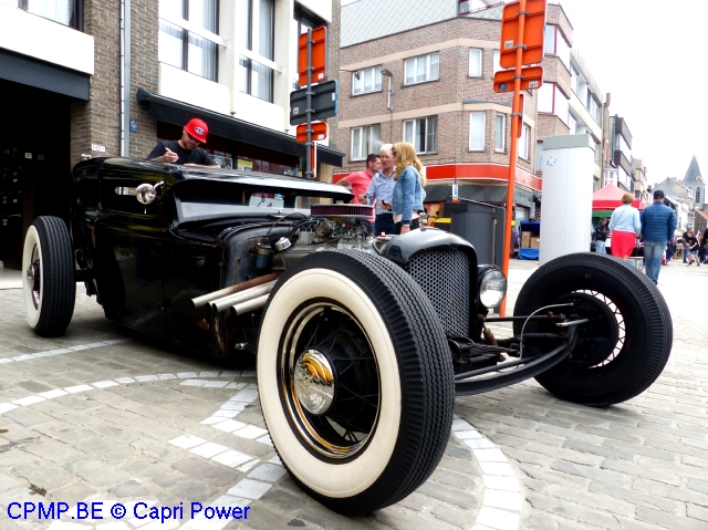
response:
[[[327,251],[291,266],[264,311],[258,381],[284,466],[336,511],[397,502],[447,445],[445,333],[420,288],[383,258]]]

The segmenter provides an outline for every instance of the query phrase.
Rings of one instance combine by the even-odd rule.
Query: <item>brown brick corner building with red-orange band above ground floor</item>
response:
[[[490,6],[494,3],[494,6]],[[382,143],[410,142],[426,166],[426,202],[507,200],[511,96],[497,94],[498,2],[358,0],[342,7],[342,173],[361,170]],[[558,9],[558,7],[551,7]],[[537,94],[524,92],[518,142],[517,219],[533,215]],[[437,211],[434,206],[433,211]]]

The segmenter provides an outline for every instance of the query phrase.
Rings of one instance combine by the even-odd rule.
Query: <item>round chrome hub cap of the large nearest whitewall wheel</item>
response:
[[[314,415],[325,414],[334,401],[334,371],[326,355],[306,350],[295,362],[295,395]]]

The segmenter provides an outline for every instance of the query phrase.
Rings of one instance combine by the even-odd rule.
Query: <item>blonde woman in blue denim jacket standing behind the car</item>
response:
[[[425,177],[423,164],[418,160],[416,148],[407,142],[398,142],[391,149],[394,155],[396,173],[394,179],[394,222],[396,233],[406,233],[420,226],[420,212],[425,198]]]

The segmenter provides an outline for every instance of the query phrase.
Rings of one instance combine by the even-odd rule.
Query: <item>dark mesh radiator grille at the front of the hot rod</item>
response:
[[[447,336],[469,336],[469,259],[460,250],[417,253],[406,271],[423,288]]]

